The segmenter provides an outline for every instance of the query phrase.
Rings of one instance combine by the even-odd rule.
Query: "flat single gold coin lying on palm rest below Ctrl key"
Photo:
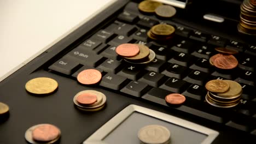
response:
[[[58,87],[57,81],[49,77],[37,77],[28,81],[25,88],[33,94],[50,94]]]

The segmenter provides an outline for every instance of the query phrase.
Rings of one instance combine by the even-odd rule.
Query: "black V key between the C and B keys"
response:
[[[159,88],[166,89],[167,91],[174,93],[182,93],[188,88],[188,82],[171,77]]]

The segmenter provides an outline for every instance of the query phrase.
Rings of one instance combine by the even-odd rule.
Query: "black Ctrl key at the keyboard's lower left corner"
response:
[[[71,75],[79,67],[79,62],[74,61],[73,59],[61,58],[52,64],[49,69],[57,71],[62,74]]]

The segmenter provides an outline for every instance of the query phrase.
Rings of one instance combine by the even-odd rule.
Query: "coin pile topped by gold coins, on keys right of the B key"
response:
[[[242,87],[231,80],[211,80],[205,85],[208,90],[206,102],[222,108],[234,107],[240,103]]]

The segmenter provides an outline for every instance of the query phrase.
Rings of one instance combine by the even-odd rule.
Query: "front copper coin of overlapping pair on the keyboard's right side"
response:
[[[238,65],[237,59],[232,55],[217,54],[212,57],[212,62],[219,69],[233,69]]]

